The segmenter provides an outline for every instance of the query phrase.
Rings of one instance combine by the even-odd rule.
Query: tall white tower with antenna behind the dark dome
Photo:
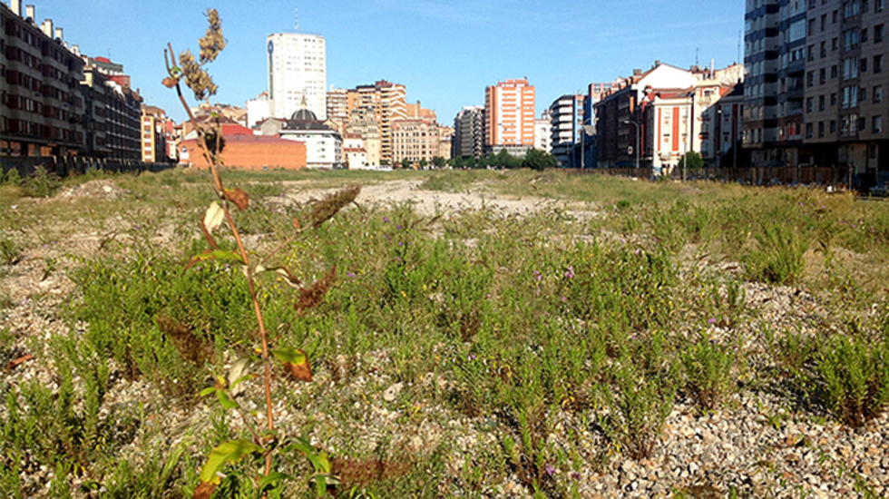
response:
[[[318,34],[269,34],[269,100],[271,114],[287,119],[307,109],[327,119],[327,57],[324,37]]]

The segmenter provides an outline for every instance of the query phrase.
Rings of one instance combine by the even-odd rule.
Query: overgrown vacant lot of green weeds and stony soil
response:
[[[889,427],[885,202],[562,171],[226,175],[249,192],[235,217],[258,253],[307,224],[298,191],[399,179],[557,201],[427,214],[359,198],[267,263],[304,282],[337,269],[308,312],[285,279],[260,288],[272,342],[305,348],[314,370],[308,384],[276,375],[278,425],[332,456],[330,494],[889,494],[858,447],[838,450]],[[78,194],[97,182],[108,189]],[[249,436],[198,394],[255,355],[257,334],[236,266],[185,269],[208,249],[209,178],[21,183],[0,187],[0,495],[190,497],[210,450]],[[261,406],[254,388],[241,406]],[[806,482],[774,449],[723,437],[747,449],[737,462],[673,471],[670,456],[699,457],[682,435],[733,419],[750,421],[740,438],[834,435],[786,444],[824,455],[812,466],[826,473]],[[889,467],[889,441],[874,445]],[[257,496],[252,469],[228,466],[214,497]],[[308,464],[277,469],[298,478],[282,496],[314,494]]]

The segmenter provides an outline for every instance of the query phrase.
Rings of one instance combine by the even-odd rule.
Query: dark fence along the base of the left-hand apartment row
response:
[[[162,171],[173,168],[176,164],[134,160],[105,160],[82,156],[0,156],[0,166],[3,168],[4,176],[6,171],[15,168],[18,170],[19,175],[26,177],[33,174],[38,166],[43,166],[47,172],[66,177],[72,174],[82,175],[87,171]]]

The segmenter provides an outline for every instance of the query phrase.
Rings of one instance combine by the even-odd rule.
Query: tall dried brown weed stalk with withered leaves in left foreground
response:
[[[249,416],[235,400],[239,393],[243,391],[243,386],[239,386],[239,384],[253,377],[249,374],[250,359],[238,359],[232,363],[228,379],[226,379],[226,377],[217,376],[215,385],[204,389],[201,391],[200,395],[209,396],[215,394],[219,398],[220,404],[225,409],[238,410],[241,413],[241,419],[248,426],[252,439],[230,440],[213,449],[208,457],[207,463],[201,469],[200,484],[195,490],[193,497],[209,498],[216,486],[220,484],[220,470],[222,466],[227,463],[238,462],[241,458],[247,455],[261,455],[264,458],[265,466],[263,473],[261,477],[256,480],[256,485],[260,493],[265,495],[269,490],[274,490],[276,488],[279,490],[280,482],[286,475],[278,472],[272,473],[272,455],[275,452],[290,451],[297,451],[308,458],[309,462],[315,469],[315,474],[310,478],[314,479],[315,484],[317,485],[318,495],[322,495],[326,494],[327,478],[331,476],[331,463],[327,457],[327,453],[318,451],[304,439],[279,438],[275,430],[275,418],[272,412],[271,368],[273,357],[280,362],[281,367],[285,369],[285,372],[288,373],[290,377],[310,382],[312,373],[308,355],[303,350],[292,347],[277,346],[274,349],[271,348],[269,334],[266,329],[265,321],[263,320],[262,308],[259,303],[259,283],[256,278],[259,274],[277,275],[278,277],[283,278],[289,286],[298,289],[298,296],[295,299],[294,307],[298,311],[298,315],[302,316],[306,313],[308,308],[317,307],[318,304],[321,303],[325,293],[327,293],[327,290],[333,286],[337,277],[336,267],[331,268],[322,279],[318,279],[318,281],[308,286],[303,286],[300,280],[286,268],[266,267],[265,264],[269,259],[303,233],[303,228],[298,223],[298,220],[294,220],[294,233],[278,246],[278,248],[272,250],[266,259],[263,259],[259,264],[251,262],[251,253],[249,253],[244,246],[244,241],[240,236],[230,210],[230,204],[237,207],[238,210],[246,210],[249,207],[249,195],[247,192],[240,189],[227,189],[223,186],[220,171],[220,166],[222,164],[220,153],[222,152],[224,142],[222,140],[222,132],[219,126],[219,115],[214,113],[216,117],[215,125],[207,125],[198,122],[195,120],[194,114],[191,113],[190,106],[186,102],[181,91],[181,83],[185,83],[185,85],[191,89],[192,93],[194,93],[195,99],[207,102],[207,99],[218,90],[218,87],[213,83],[210,74],[204,69],[204,65],[216,60],[222,49],[225,48],[226,41],[222,36],[219,13],[215,9],[209,9],[206,15],[209,27],[204,36],[200,38],[200,55],[198,60],[195,60],[194,55],[186,50],[179,55],[177,64],[177,59],[173,55],[174,53],[171,44],[168,44],[167,49],[164,50],[164,61],[167,65],[168,76],[164,78],[162,83],[167,87],[176,90],[182,103],[182,107],[185,109],[186,113],[188,113],[189,121],[198,134],[198,148],[207,161],[207,164],[210,166],[210,173],[213,179],[213,190],[218,197],[218,201],[214,201],[210,204],[210,208],[208,208],[204,215],[204,219],[200,223],[200,230],[210,245],[210,249],[190,259],[185,268],[190,269],[196,263],[201,261],[216,260],[238,265],[244,270],[244,274],[247,278],[246,281],[250,300],[253,305],[253,311],[256,315],[259,329],[258,336],[259,343],[261,344],[261,348],[259,349],[261,352],[259,363],[263,368],[261,378],[263,379],[265,392],[266,429],[259,431],[255,428],[250,423],[253,416]],[[327,199],[323,201],[318,201],[311,214],[311,223],[309,227],[312,229],[321,227],[325,221],[330,220],[339,210],[342,210],[350,202],[355,201],[359,191],[360,188],[357,186],[349,187],[343,191],[328,196]],[[220,245],[217,244],[212,235],[213,231],[219,229],[223,223],[228,226],[230,234],[237,244],[236,251],[220,249]],[[188,342],[187,340],[194,339],[187,328],[182,328],[181,325],[177,323],[173,323],[167,319],[161,320],[160,318],[159,325],[161,328],[165,328],[165,330],[168,331],[168,335],[170,335],[174,341],[183,343],[185,350],[190,351],[193,349],[193,345],[184,345],[184,343]],[[290,445],[279,445],[279,442],[290,442]]]

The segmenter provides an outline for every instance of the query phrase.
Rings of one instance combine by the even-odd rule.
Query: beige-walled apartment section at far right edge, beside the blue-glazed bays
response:
[[[806,23],[803,161],[885,170],[889,9],[884,0],[819,0],[810,2]]]

